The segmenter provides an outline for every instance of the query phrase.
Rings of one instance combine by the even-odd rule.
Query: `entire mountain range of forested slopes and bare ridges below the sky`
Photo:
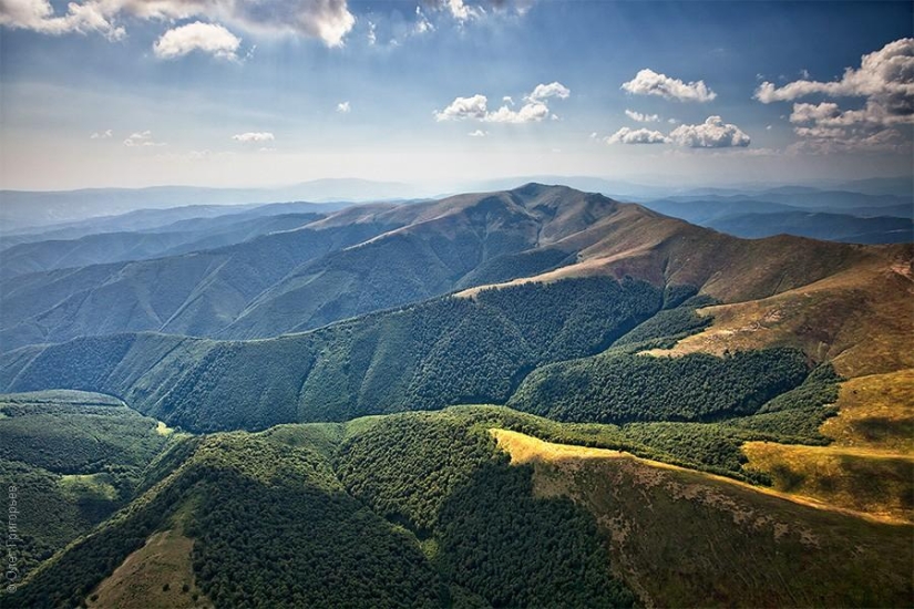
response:
[[[695,196],[8,242],[0,473],[66,516],[4,603],[906,605],[914,245],[657,210],[840,229],[792,207],[819,192]]]

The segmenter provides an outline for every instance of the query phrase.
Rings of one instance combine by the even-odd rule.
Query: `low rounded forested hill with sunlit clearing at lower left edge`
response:
[[[18,489],[19,575],[131,500],[166,443],[154,420],[105,395],[0,395],[0,484]]]

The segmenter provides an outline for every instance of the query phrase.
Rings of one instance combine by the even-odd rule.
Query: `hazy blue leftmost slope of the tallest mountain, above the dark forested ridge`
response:
[[[220,249],[20,277],[0,296],[0,344],[140,330],[206,334],[298,265],[387,228],[302,228]]]

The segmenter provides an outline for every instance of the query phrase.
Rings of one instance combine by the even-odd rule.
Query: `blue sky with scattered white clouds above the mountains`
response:
[[[0,188],[910,175],[914,3],[0,0]]]

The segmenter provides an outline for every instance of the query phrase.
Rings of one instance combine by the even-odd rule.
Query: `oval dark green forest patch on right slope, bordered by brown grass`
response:
[[[801,351],[655,358],[612,353],[534,371],[509,405],[559,421],[711,421],[752,414],[800,385]]]

